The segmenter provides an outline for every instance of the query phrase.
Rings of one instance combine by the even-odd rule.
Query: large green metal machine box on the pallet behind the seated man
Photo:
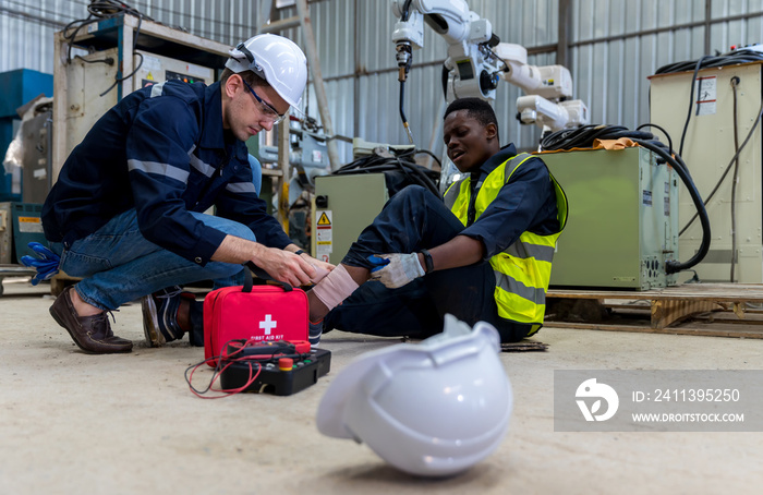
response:
[[[678,174],[642,147],[542,153],[569,216],[552,287],[647,290],[677,283]]]

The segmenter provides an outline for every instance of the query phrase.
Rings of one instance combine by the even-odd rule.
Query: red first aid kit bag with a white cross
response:
[[[307,340],[307,294],[288,283],[223,287],[204,299],[204,358],[210,366],[230,340]]]

